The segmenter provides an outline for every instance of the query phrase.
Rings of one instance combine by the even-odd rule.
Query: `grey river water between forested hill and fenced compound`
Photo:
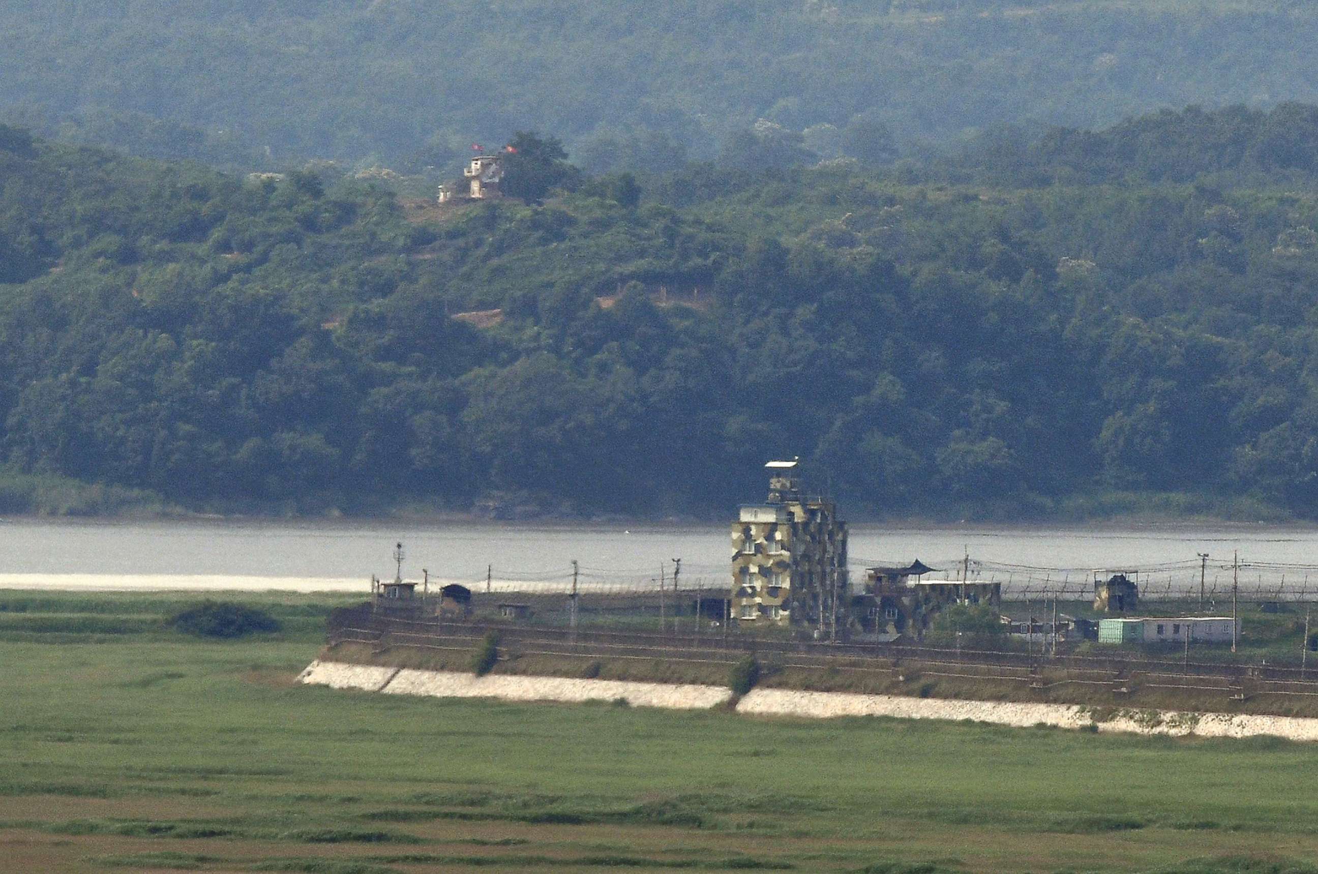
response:
[[[498,523],[389,521],[0,521],[0,588],[361,591],[370,575],[391,579],[394,543],[403,576],[484,584],[503,591],[581,585],[645,588],[681,559],[685,584],[726,584],[725,525]],[[1090,568],[1144,568],[1147,580],[1198,585],[1198,555],[1210,555],[1209,585],[1301,584],[1313,567],[1318,527],[1275,525],[946,526],[853,525],[853,580],[875,564],[921,559],[954,579],[969,552],[971,575],[1010,584],[1066,579]],[[1173,566],[1174,564],[1174,566]],[[1155,567],[1160,566],[1160,567]],[[662,568],[662,569],[660,569]],[[1159,576],[1159,575],[1162,576]],[[1159,583],[1160,584],[1160,583]]]

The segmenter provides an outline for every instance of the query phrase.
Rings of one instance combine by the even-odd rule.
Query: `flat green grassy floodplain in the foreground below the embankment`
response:
[[[1318,871],[1313,746],[336,692],[236,597],[0,592],[0,867]]]

